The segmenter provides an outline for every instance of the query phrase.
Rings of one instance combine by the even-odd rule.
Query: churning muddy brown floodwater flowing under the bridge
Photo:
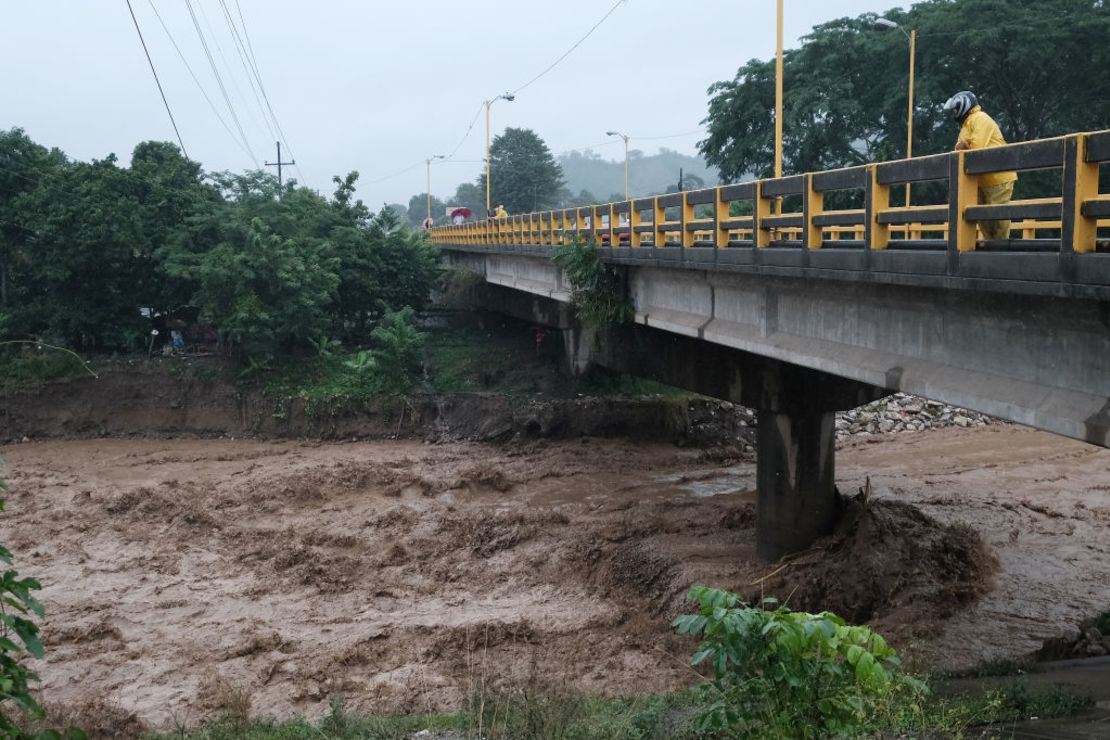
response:
[[[453,709],[482,682],[687,685],[690,584],[835,606],[919,665],[1020,657],[1110,607],[1110,450],[1017,426],[840,449],[868,488],[785,568],[754,460],[618,440],[99,439],[0,448],[0,541],[43,582],[54,706],[154,728]]]

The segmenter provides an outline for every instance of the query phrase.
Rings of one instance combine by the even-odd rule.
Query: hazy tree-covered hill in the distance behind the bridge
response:
[[[612,194],[624,194],[624,158],[604,160],[592,150],[573,151],[558,158],[563,168],[566,189],[572,193],[583,190],[602,201]],[[655,195],[674,190],[678,184],[678,170],[685,175],[700,178],[708,185],[717,184],[717,170],[708,166],[700,156],[680,154],[669,149],[659,149],[657,154],[645,155],[639,150],[628,152],[632,165],[632,192],[634,196]],[[689,184],[687,184],[689,190]]]

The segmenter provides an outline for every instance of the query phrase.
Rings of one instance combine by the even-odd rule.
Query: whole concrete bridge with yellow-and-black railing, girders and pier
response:
[[[1110,446],[1107,161],[1110,132],[1076,134],[445,226],[432,239],[485,277],[487,307],[565,330],[579,365],[756,408],[758,548],[773,559],[835,521],[834,413],[888,393]],[[1005,170],[1056,170],[1061,194],[977,205],[976,176]],[[891,206],[907,182],[946,185],[947,201]],[[831,193],[862,207],[826,210]],[[977,240],[977,223],[998,220],[1012,222],[1012,239]],[[634,322],[574,321],[549,252],[575,239],[619,276]]]

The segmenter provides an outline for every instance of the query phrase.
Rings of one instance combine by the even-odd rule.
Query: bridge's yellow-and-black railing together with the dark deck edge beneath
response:
[[[433,229],[448,249],[543,253],[575,239],[630,264],[1110,300],[1110,131]],[[977,176],[1054,170],[1060,195],[978,205]],[[912,183],[947,200],[891,205]],[[826,197],[862,207],[830,210]],[[1011,221],[985,242],[977,224]]]

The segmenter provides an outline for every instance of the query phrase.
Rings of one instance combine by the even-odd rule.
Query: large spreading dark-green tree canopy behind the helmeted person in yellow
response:
[[[1101,0],[927,0],[885,14],[916,29],[914,152],[949,151],[944,102],[970,89],[1010,141],[1098,129],[1110,120],[1110,8]],[[905,156],[906,39],[875,13],[814,28],[784,59],[784,170]],[[775,75],[751,60],[709,88],[700,142],[723,180],[769,176]]]

